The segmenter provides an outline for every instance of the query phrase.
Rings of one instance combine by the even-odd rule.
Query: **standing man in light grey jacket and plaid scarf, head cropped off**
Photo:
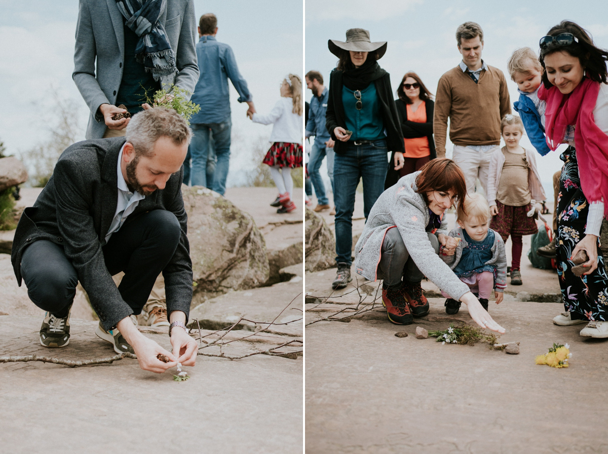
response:
[[[89,106],[87,139],[124,136],[142,110],[145,91],[175,84],[189,92],[198,80],[192,0],[80,0],[72,78]]]

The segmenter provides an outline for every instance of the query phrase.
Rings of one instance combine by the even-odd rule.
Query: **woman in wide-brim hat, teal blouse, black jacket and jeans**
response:
[[[389,73],[379,64],[386,41],[372,43],[364,29],[350,29],[346,41],[329,40],[339,58],[331,72],[326,126],[336,141],[334,151],[334,202],[336,203],[337,275],[333,289],[351,280],[354,197],[363,180],[364,215],[370,213],[384,191],[389,151],[394,164],[403,165],[404,143],[399,127]]]

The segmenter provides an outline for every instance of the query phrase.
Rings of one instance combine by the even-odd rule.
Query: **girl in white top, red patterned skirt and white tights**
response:
[[[291,213],[295,204],[291,199],[294,182],[291,169],[302,167],[302,79],[289,74],[283,79],[279,100],[268,115],[258,113],[247,116],[256,123],[272,126],[270,150],[262,160],[270,166],[270,173],[278,189],[272,207],[281,205],[277,213]]]

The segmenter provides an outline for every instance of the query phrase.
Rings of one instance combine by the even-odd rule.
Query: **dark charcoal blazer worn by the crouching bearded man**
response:
[[[41,239],[62,246],[105,329],[114,328],[120,320],[133,314],[105,266],[102,250],[116,213],[116,166],[123,143],[124,137],[114,137],[69,146],[61,154],[34,206],[26,208],[19,219],[11,254],[13,270],[21,286],[21,256],[27,246]],[[192,261],[181,191],[183,173],[182,167],[171,175],[164,189],[142,199],[125,222],[150,210],[167,210],[178,218],[181,238],[162,275],[168,313],[183,311],[187,317],[192,302]]]

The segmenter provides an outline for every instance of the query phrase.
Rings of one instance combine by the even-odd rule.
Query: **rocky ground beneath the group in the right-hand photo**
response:
[[[355,238],[363,227],[361,205],[358,200]],[[322,217],[333,229],[333,217]],[[489,306],[506,328],[499,342],[519,342],[519,354],[485,343],[416,339],[418,326],[471,323],[466,306],[447,315],[445,298],[430,282],[423,283],[429,314],[397,326],[387,320],[378,283],[359,278],[332,292],[336,269],[307,272],[306,452],[608,452],[608,340],[581,337],[584,325],[552,323],[563,311],[557,273],[530,266],[530,237],[524,238],[523,285],[508,285],[505,300]],[[341,320],[319,321],[330,316]],[[554,342],[569,344],[570,367],[534,363]]]

